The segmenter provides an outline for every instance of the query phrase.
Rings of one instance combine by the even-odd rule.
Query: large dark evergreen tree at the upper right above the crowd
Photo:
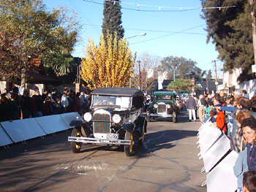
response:
[[[238,80],[243,82],[252,78],[251,66],[254,64],[252,43],[252,10],[255,4],[249,1],[207,0],[204,7],[230,7],[228,9],[203,9],[202,18],[206,20],[207,42],[212,39],[224,61],[224,71],[232,72],[242,68]]]

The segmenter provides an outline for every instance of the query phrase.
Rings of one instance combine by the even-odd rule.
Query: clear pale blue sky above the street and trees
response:
[[[69,7],[79,15],[81,42],[72,53],[84,57],[88,38],[98,45],[102,34],[104,0],[42,0],[48,9]],[[111,1],[111,0],[110,0]],[[214,60],[218,76],[222,62],[218,61],[215,45],[206,43],[206,22],[200,18],[200,0],[124,0],[121,1],[124,38],[128,38],[132,53],[148,53],[158,58],[184,57],[214,76]],[[140,34],[146,33],[146,36]],[[135,37],[134,37],[135,36]],[[132,38],[129,38],[132,37]]]

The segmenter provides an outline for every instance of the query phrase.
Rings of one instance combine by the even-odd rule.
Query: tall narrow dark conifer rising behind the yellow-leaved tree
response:
[[[114,35],[117,33],[118,39],[124,38],[124,28],[121,26],[121,1],[104,1],[103,9],[103,24],[102,24],[102,34],[107,36],[107,31]],[[106,39],[105,39],[106,40]]]

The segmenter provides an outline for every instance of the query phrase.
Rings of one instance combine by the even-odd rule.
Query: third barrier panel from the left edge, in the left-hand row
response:
[[[35,118],[42,130],[46,134],[53,134],[59,131],[69,129],[67,124],[62,120],[60,115],[48,115],[39,118]]]

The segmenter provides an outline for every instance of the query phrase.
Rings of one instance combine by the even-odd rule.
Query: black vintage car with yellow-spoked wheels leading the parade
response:
[[[72,120],[71,142],[73,153],[79,153],[82,143],[124,146],[132,155],[135,141],[143,145],[146,118],[140,115],[143,92],[136,88],[99,88],[91,92],[91,112],[83,121]]]

